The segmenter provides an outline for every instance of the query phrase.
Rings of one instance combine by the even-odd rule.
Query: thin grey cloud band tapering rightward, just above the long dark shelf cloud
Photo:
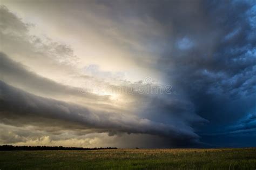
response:
[[[66,86],[56,83],[53,80],[39,76],[38,74],[26,70],[21,63],[10,59],[3,52],[0,52],[0,79],[31,93],[43,96],[76,96],[83,99],[94,99],[106,101],[107,96],[100,97],[92,93],[81,93],[79,87]]]

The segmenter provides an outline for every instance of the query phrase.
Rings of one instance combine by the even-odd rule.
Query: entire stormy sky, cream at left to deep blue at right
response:
[[[255,141],[255,1],[1,1],[0,144]]]

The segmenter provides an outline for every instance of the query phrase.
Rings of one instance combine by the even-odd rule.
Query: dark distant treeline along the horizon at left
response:
[[[83,148],[83,147],[63,147],[63,146],[12,146],[2,145],[0,151],[43,151],[43,150],[68,150],[68,151],[90,151],[99,149],[117,149],[116,147],[95,147],[95,148]]]

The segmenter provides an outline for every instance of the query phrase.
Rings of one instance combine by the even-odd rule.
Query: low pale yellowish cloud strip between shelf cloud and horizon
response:
[[[0,143],[11,145],[165,148],[170,147],[170,143],[172,142],[167,141],[166,138],[149,134],[120,133],[109,137],[106,133],[86,133],[79,130],[63,130],[61,133],[49,133],[44,131],[43,128],[38,130],[35,126],[16,127],[0,124],[0,127]],[[158,146],[156,146],[156,144],[158,144]]]

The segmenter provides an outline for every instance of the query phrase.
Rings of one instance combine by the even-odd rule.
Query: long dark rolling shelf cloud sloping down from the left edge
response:
[[[122,113],[99,112],[88,108],[64,103],[62,101],[46,99],[29,94],[1,81],[1,120],[8,123],[9,119],[18,119],[20,124],[30,124],[30,121],[53,119],[72,123],[86,128],[113,130],[126,133],[146,133],[164,136],[173,140],[186,139],[193,141],[197,134],[176,128],[174,126],[155,123],[148,119],[139,119]],[[28,119],[26,119],[28,118]],[[70,128],[71,124],[68,124]]]

